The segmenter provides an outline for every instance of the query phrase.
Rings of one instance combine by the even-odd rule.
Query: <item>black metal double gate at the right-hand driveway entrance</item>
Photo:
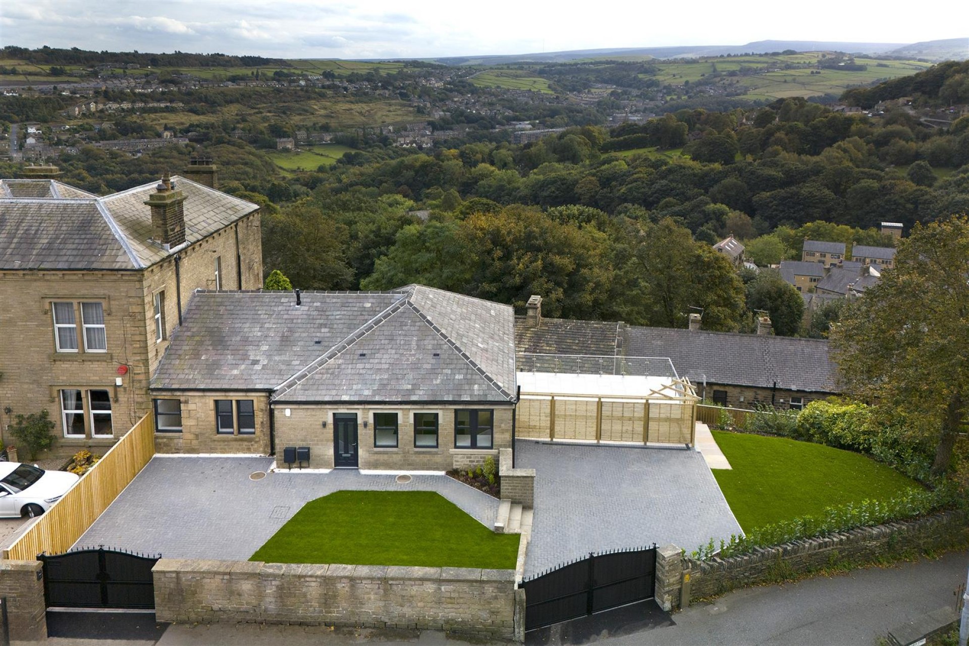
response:
[[[556,569],[525,579],[525,630],[591,615],[653,598],[656,545],[589,553]]]

